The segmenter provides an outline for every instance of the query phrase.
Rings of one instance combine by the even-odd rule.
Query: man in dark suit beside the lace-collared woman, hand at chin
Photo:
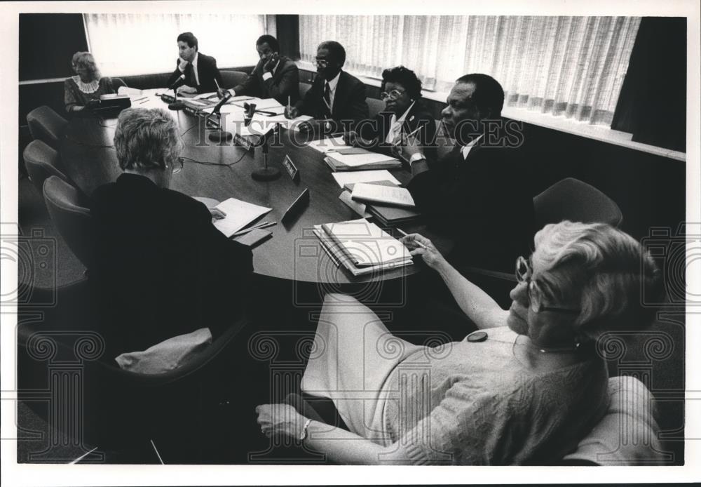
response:
[[[219,91],[217,83],[222,86],[222,74],[217,68],[217,60],[199,52],[197,37],[192,32],[183,32],[177,36],[177,48],[179,58],[175,71],[168,78],[168,86],[184,76],[179,93]]]

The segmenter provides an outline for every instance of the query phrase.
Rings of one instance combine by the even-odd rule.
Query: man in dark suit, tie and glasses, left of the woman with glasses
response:
[[[319,44],[316,51],[316,72],[309,91],[285,115],[313,116],[327,129],[336,131],[346,124],[367,119],[365,84],[341,68],[346,62],[346,49],[336,41]]]

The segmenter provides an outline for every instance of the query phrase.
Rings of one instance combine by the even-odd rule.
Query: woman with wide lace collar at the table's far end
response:
[[[100,76],[95,58],[88,52],[73,55],[71,65],[76,76],[71,76],[64,83],[64,102],[66,112],[81,112],[100,100],[101,95],[116,93],[111,78]]]

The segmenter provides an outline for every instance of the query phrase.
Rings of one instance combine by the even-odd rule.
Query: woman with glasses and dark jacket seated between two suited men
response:
[[[407,138],[414,138],[426,159],[434,161],[436,126],[421,103],[421,80],[411,69],[397,66],[382,72],[381,89],[385,109],[346,133],[346,142],[401,156]]]

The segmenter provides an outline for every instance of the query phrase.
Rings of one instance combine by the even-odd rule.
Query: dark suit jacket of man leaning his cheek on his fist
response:
[[[236,95],[257,96],[258,98],[275,98],[283,105],[287,105],[287,97],[294,105],[299,101],[299,69],[294,61],[285,56],[280,56],[278,69],[275,69],[272,78],[263,79],[264,60],[259,60],[253,68],[250,76],[243,84],[233,88]]]

